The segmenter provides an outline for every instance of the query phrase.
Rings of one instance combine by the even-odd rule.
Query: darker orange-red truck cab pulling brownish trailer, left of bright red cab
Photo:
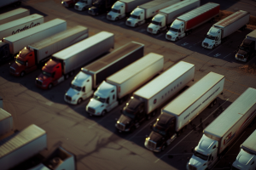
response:
[[[15,57],[15,63],[10,65],[9,72],[16,77],[24,77],[26,73],[37,69],[35,62],[34,52],[25,47]]]

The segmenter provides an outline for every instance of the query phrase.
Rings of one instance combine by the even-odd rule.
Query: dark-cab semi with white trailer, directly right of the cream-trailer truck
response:
[[[154,116],[160,107],[194,79],[195,65],[180,61],[159,77],[138,89],[123,108],[115,127],[119,132],[133,131]],[[175,88],[174,88],[175,87]]]

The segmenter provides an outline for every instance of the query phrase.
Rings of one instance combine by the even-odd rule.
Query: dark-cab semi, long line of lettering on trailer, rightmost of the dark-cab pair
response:
[[[224,76],[210,72],[183,94],[166,105],[145,139],[148,150],[160,152],[166,149],[207,106],[217,103],[217,96],[223,92]]]

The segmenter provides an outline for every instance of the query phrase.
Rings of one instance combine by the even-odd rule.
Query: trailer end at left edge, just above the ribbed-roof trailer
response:
[[[0,136],[13,130],[13,116],[0,108]]]

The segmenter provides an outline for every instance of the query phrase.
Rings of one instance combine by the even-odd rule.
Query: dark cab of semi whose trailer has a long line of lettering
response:
[[[145,140],[145,146],[148,150],[160,152],[166,149],[166,146],[172,143],[176,138],[175,116],[167,113],[161,113],[156,119],[154,125],[150,125],[152,132]]]

